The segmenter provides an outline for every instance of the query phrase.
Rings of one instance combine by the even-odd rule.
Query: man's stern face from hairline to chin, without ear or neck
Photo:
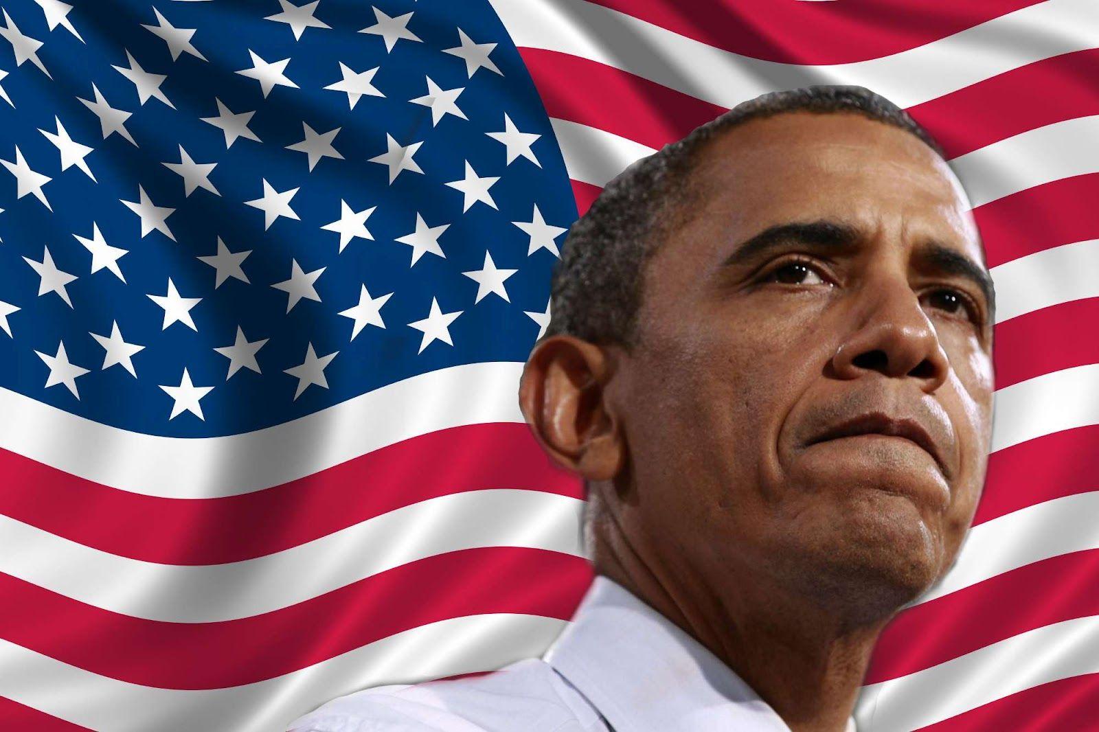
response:
[[[964,193],[915,136],[847,113],[748,122],[690,177],[617,378],[629,530],[711,580],[764,567],[899,607],[953,563],[985,479],[992,313]]]

